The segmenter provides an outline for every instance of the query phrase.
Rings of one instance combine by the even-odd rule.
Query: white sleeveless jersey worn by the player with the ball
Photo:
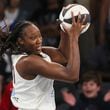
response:
[[[16,70],[16,63],[23,56],[26,55],[12,55],[12,103],[20,110],[55,110],[53,80],[41,75],[37,75],[33,80],[22,78]],[[48,55],[43,56],[45,60],[51,61]]]

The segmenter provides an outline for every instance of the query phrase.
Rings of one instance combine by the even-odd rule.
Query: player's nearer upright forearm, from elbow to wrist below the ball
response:
[[[78,39],[73,37],[69,39],[69,53],[68,53],[68,70],[71,70],[71,78],[73,81],[79,79],[79,70],[80,70],[80,53],[78,46]]]

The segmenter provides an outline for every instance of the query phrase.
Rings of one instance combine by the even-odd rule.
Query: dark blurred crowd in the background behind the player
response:
[[[69,3],[79,3],[88,9],[91,25],[79,41],[79,82],[55,81],[57,110],[110,110],[110,0],[0,0],[0,31],[13,31],[18,21],[29,20],[40,28],[43,45],[57,47],[60,27],[56,19],[62,7]],[[16,110],[8,107],[12,106],[10,63],[9,54],[5,53],[0,60],[0,107],[4,106],[3,110]]]

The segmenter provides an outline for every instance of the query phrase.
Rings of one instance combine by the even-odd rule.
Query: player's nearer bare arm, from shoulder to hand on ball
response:
[[[47,78],[74,82],[79,79],[80,57],[78,38],[82,30],[82,23],[78,19],[77,22],[73,19],[73,24],[70,29],[64,26],[69,36],[69,53],[68,62],[66,66],[55,62],[45,61],[42,57],[31,55],[23,58],[17,63],[17,71],[23,75],[40,74]],[[22,69],[21,69],[22,68]]]

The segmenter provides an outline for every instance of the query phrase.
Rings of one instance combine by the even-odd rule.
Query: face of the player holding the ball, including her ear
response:
[[[29,25],[23,30],[23,37],[19,43],[30,53],[41,52],[42,36],[40,30],[35,25]]]

